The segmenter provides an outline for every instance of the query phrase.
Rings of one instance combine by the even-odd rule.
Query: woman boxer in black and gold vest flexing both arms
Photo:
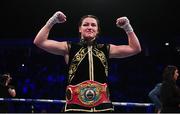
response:
[[[56,12],[39,31],[34,44],[47,52],[62,55],[68,65],[68,86],[66,89],[65,112],[113,111],[107,84],[108,59],[124,58],[141,51],[139,40],[127,17],[118,18],[116,25],[128,36],[128,45],[98,44],[100,32],[97,17],[86,15],[79,22],[80,42],[59,42],[49,40],[54,24],[63,23],[66,16]]]

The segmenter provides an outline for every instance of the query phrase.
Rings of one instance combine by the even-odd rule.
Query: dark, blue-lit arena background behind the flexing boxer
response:
[[[77,41],[79,19],[93,14],[100,19],[100,42],[126,44],[126,34],[115,22],[121,16],[129,18],[142,52],[124,59],[111,59],[112,101],[151,102],[148,92],[161,82],[163,68],[168,64],[180,66],[178,0],[2,0],[0,73],[11,73],[17,98],[64,99],[63,57],[33,44],[40,28],[58,10],[67,16],[67,22],[55,25],[50,38],[59,41]]]

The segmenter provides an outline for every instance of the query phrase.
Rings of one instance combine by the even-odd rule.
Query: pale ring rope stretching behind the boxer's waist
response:
[[[0,102],[8,102],[8,103],[29,103],[31,108],[31,113],[35,112],[35,104],[36,103],[48,103],[48,104],[57,104],[62,105],[65,104],[65,100],[56,100],[56,99],[24,99],[24,98],[0,98]],[[154,104],[153,103],[134,103],[134,102],[112,102],[115,107],[124,107],[127,112],[132,107],[141,107],[144,108],[144,112],[153,112]]]

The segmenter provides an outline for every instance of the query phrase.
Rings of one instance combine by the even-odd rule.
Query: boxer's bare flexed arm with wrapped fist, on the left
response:
[[[66,21],[66,16],[58,11],[47,23],[41,28],[34,39],[34,44],[39,48],[56,55],[66,55],[68,53],[67,42],[59,42],[48,39],[51,28],[56,23],[63,23]]]

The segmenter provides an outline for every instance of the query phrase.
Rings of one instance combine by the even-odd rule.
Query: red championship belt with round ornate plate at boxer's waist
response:
[[[68,85],[66,89],[66,102],[67,104],[78,104],[85,107],[109,103],[107,84],[88,80],[77,85]]]

